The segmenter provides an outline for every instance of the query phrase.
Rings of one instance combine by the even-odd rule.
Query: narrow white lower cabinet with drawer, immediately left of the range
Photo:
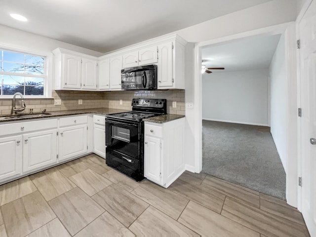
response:
[[[94,115],[93,153],[105,158],[105,117]]]

